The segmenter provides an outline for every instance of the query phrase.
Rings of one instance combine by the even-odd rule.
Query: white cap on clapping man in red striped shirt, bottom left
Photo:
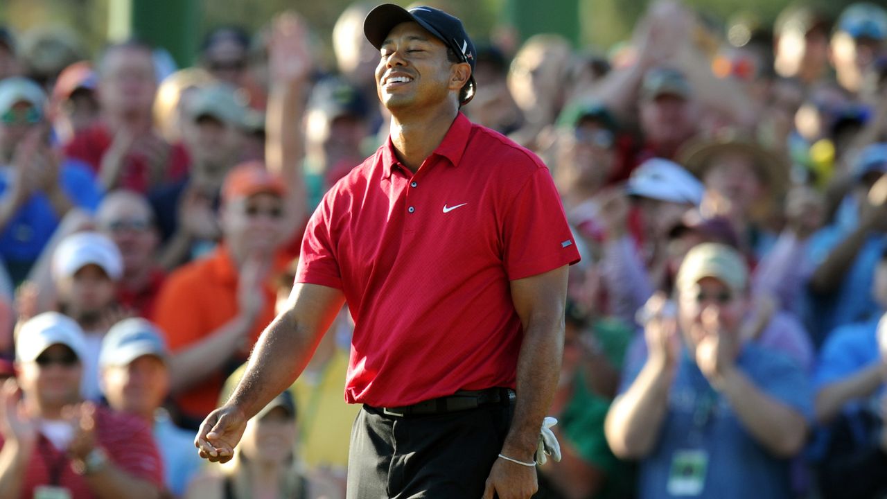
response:
[[[81,360],[86,352],[83,330],[73,319],[58,312],[45,312],[21,325],[15,356],[20,362],[33,362],[52,345],[67,346]]]

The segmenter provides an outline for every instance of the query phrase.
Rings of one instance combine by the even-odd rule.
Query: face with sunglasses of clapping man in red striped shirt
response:
[[[19,384],[27,397],[59,408],[80,400],[83,367],[67,345],[50,345],[33,362],[20,364]]]

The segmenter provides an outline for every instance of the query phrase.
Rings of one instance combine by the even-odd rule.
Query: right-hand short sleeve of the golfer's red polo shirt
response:
[[[523,279],[579,261],[551,174],[534,171],[506,211],[503,260],[508,279]]]

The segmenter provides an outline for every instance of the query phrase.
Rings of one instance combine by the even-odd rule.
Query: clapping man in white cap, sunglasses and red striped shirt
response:
[[[18,385],[0,395],[0,496],[157,497],[163,467],[145,423],[80,397],[77,324],[43,313],[19,335]]]

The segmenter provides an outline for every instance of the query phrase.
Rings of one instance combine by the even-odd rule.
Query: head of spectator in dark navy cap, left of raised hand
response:
[[[200,46],[200,65],[235,88],[246,85],[249,34],[237,26],[211,30]]]

